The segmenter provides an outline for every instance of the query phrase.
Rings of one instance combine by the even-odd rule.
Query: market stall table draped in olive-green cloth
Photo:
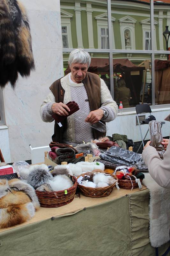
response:
[[[67,205],[41,208],[28,222],[0,229],[1,255],[155,255],[149,242],[149,190],[116,188],[107,197],[81,194]],[[166,251],[168,244],[159,248]]]

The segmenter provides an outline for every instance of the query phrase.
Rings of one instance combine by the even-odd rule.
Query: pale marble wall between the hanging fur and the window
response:
[[[32,148],[49,145],[54,122],[41,120],[40,106],[49,86],[63,76],[60,0],[20,1],[29,17],[35,71],[19,77],[15,90],[10,85],[4,88],[11,162],[30,160],[29,144]]]

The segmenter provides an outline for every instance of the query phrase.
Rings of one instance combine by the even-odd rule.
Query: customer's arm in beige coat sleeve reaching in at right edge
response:
[[[148,141],[144,146],[142,158],[148,166],[148,171],[152,178],[163,188],[170,188],[170,143],[168,139],[163,139],[165,148],[164,159],[160,159],[155,148],[150,146]],[[169,144],[168,144],[169,143]]]

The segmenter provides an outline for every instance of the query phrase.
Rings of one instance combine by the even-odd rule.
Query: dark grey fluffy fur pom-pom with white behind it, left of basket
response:
[[[29,171],[27,182],[35,189],[48,183],[48,181],[53,178],[52,174],[48,172],[48,166],[45,164],[33,165],[30,167]]]

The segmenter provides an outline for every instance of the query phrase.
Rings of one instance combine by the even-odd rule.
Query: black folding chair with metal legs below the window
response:
[[[142,140],[139,148],[137,149],[137,153],[138,153],[138,151],[139,151],[140,147],[142,146],[142,144],[143,144],[143,147],[144,147],[144,140],[145,140],[145,138],[146,138],[146,136],[147,136],[147,134],[149,132],[149,128],[148,128],[148,130],[147,130],[147,132],[146,132],[146,134],[144,136],[144,139],[143,139],[141,125],[145,124],[145,123],[139,122],[138,114],[149,113],[150,116],[151,116],[152,110],[151,110],[151,108],[150,108],[150,106],[148,104],[139,104],[139,105],[136,105],[136,112],[137,112],[137,122],[139,124],[139,130],[140,130],[140,135],[141,135],[141,140]],[[162,127],[162,124],[165,124],[165,122],[161,122],[160,124],[161,124],[161,127]]]

